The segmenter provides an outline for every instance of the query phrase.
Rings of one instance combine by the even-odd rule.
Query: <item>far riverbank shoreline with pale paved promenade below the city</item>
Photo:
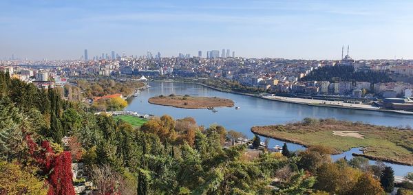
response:
[[[307,106],[319,106],[319,107],[327,107],[327,108],[342,108],[342,109],[352,109],[352,110],[359,110],[359,111],[376,111],[376,112],[382,112],[382,113],[394,113],[394,114],[400,114],[400,115],[413,115],[413,112],[410,111],[397,111],[397,110],[389,110],[389,109],[383,109],[383,108],[362,108],[362,107],[357,107],[357,106],[339,106],[339,105],[334,105],[334,104],[317,104],[317,103],[310,103],[308,100],[310,99],[304,99],[304,98],[295,98],[295,100],[301,100],[300,101],[293,101],[293,100],[282,100],[283,98],[287,98],[284,96],[262,96],[262,95],[257,95],[254,93],[242,93],[242,92],[237,92],[237,91],[231,91],[231,90],[225,90],[225,89],[220,89],[218,87],[212,87],[207,84],[203,84],[200,82],[185,82],[185,81],[176,81],[176,80],[153,80],[152,82],[179,82],[179,83],[191,83],[191,84],[200,84],[203,87],[207,87],[209,89],[214,89],[217,91],[221,92],[226,92],[226,93],[233,93],[233,94],[238,94],[238,95],[248,95],[251,97],[255,98],[261,98],[264,100],[271,100],[271,101],[276,101],[276,102],[285,102],[285,103],[290,103],[290,104],[301,104],[301,105],[307,105]],[[270,97],[275,97],[275,98],[270,98]],[[321,100],[320,100],[321,101]],[[323,100],[324,102],[327,102]],[[337,103],[342,103],[339,101],[328,101],[328,102],[337,102]],[[347,103],[349,104],[349,103]],[[366,105],[366,104],[361,104],[361,105]]]

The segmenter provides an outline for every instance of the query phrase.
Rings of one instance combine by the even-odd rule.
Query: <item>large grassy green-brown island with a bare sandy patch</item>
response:
[[[292,124],[254,126],[253,133],[303,146],[328,146],[341,153],[363,148],[359,156],[413,165],[413,130],[347,122],[335,119],[310,119]]]

